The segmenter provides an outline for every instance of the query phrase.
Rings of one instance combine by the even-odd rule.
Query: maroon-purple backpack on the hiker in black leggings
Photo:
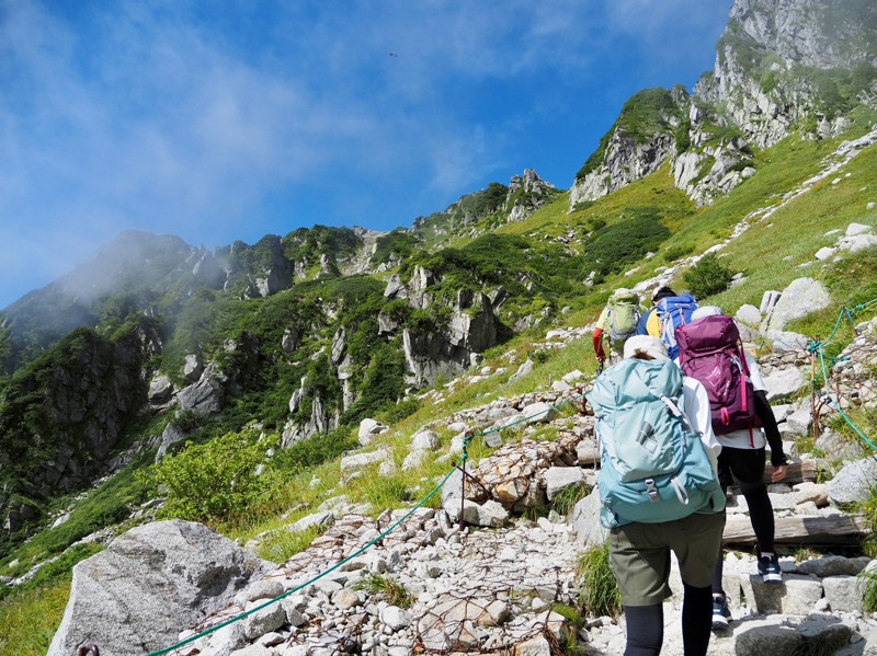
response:
[[[730,317],[704,317],[676,329],[682,372],[699,380],[709,396],[713,431],[761,426],[740,331]]]

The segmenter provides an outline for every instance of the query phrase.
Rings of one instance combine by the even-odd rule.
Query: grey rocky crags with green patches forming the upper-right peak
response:
[[[652,103],[652,128],[636,138],[629,105],[638,96],[628,101],[577,176],[570,210],[668,160],[675,185],[708,205],[754,173],[750,146],[772,146],[796,129],[817,138],[847,129],[854,106],[877,104],[876,67],[874,2],[737,0],[715,70],[691,99],[674,90],[675,108]]]

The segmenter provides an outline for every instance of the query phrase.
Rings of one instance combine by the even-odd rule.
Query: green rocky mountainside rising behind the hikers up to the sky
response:
[[[877,120],[865,92],[870,42],[855,45],[855,35],[870,34],[873,10],[850,7],[854,19],[810,24],[799,10],[819,10],[813,3],[736,2],[716,71],[693,95],[647,90],[631,99],[569,193],[525,172],[410,229],[318,226],[212,252],[130,233],[13,303],[0,331],[2,574],[20,577],[82,538],[105,536],[99,519],[124,520],[113,529],[124,530],[152,517],[157,492],[135,471],[152,471],[157,451],[174,454],[186,441],[209,452],[226,435],[264,439],[265,490],[209,521],[247,537],[283,523],[276,517],[311,503],[303,499],[317,503],[310,482],[337,476],[362,419],[405,441],[485,399],[591,371],[586,339],[556,354],[545,331],[592,322],[615,287],[684,287],[685,272],[714,248],[741,279],[707,299],[729,311],[758,307],[766,290],[805,275],[827,284],[836,303],[869,300],[870,255],[822,263],[813,254],[834,243],[832,230],[877,223],[875,147],[808,182]],[[795,76],[843,57],[786,32],[813,25],[843,28],[864,53],[843,55],[853,68],[824,69],[843,101],[824,114],[830,129],[818,117],[817,104],[831,100],[824,85],[799,90]],[[764,71],[774,60],[786,62],[777,76],[790,77],[771,89]],[[783,138],[754,114],[728,112],[752,112],[763,104],[758,93],[774,89],[771,102],[785,103],[775,116]],[[594,176],[603,176],[600,193],[582,195]],[[805,327],[827,333],[828,313]],[[532,373],[510,380],[527,360]],[[485,370],[503,375],[460,382]],[[396,457],[401,464],[407,453]],[[437,473],[424,467],[392,479],[389,500],[357,491],[399,504],[415,476]],[[75,550],[71,560],[87,555]]]

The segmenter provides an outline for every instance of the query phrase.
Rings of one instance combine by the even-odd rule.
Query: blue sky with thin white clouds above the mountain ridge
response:
[[[728,0],[0,0],[0,309],[123,230],[214,248],[558,187]]]

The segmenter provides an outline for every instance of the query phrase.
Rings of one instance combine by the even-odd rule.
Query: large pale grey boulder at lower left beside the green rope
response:
[[[103,656],[170,646],[273,568],[201,523],[139,526],[73,567],[70,600],[48,656],[76,654],[86,643]]]

